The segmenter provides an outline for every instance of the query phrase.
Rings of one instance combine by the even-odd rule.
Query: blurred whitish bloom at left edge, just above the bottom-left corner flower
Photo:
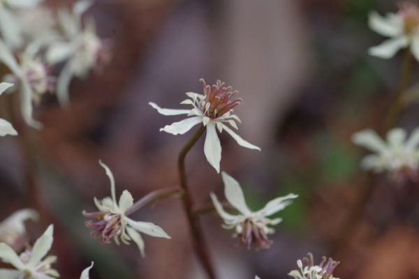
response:
[[[8,244],[14,250],[22,248],[22,239],[26,234],[24,222],[38,220],[39,216],[34,209],[21,209],[8,216],[0,223],[0,242]]]

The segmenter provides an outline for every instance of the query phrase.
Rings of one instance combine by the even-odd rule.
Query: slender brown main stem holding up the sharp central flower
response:
[[[183,205],[184,210],[186,211],[186,216],[188,218],[189,230],[191,231],[193,248],[195,248],[196,253],[200,259],[200,262],[203,264],[205,272],[210,279],[215,279],[214,269],[212,268],[212,263],[210,255],[208,253],[207,246],[205,244],[205,239],[203,236],[203,229],[200,227],[198,217],[193,214],[193,201],[192,194],[189,190],[188,184],[186,182],[186,172],[185,172],[185,157],[186,154],[191,150],[192,146],[196,144],[201,135],[203,135],[205,127],[201,124],[200,128],[196,130],[196,133],[193,134],[191,140],[185,144],[182,150],[179,153],[177,158],[178,170],[179,170],[179,179],[180,186],[184,190],[183,195]]]

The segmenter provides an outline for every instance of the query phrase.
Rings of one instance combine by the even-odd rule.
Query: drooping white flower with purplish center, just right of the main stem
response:
[[[216,195],[211,193],[210,195],[215,209],[219,213],[219,216],[224,220],[223,227],[226,229],[235,229],[235,234],[233,234],[233,236],[238,236],[240,242],[247,246],[248,249],[251,248],[252,245],[257,249],[270,248],[272,241],[267,238],[267,235],[273,234],[274,229],[269,226],[281,223],[282,219],[270,219],[267,217],[290,205],[292,203],[290,199],[295,199],[298,196],[289,194],[284,197],[277,197],[268,202],[263,209],[251,211],[244,200],[240,184],[233,179],[233,177],[226,174],[226,172],[222,172],[222,176],[225,186],[224,195],[228,202],[240,212],[239,215],[227,213],[224,211],[223,206]]]

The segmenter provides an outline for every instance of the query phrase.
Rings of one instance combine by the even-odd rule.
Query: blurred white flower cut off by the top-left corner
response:
[[[0,31],[3,40],[9,47],[20,47],[23,43],[22,26],[15,12],[35,8],[43,0],[1,0]]]

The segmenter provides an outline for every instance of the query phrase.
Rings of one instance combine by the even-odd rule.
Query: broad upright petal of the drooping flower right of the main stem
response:
[[[226,172],[222,172],[224,182],[224,195],[230,204],[232,204],[238,211],[244,215],[251,213],[249,207],[247,207],[246,200],[244,199],[243,190],[240,187],[240,184],[233,179],[232,176],[228,175]]]

